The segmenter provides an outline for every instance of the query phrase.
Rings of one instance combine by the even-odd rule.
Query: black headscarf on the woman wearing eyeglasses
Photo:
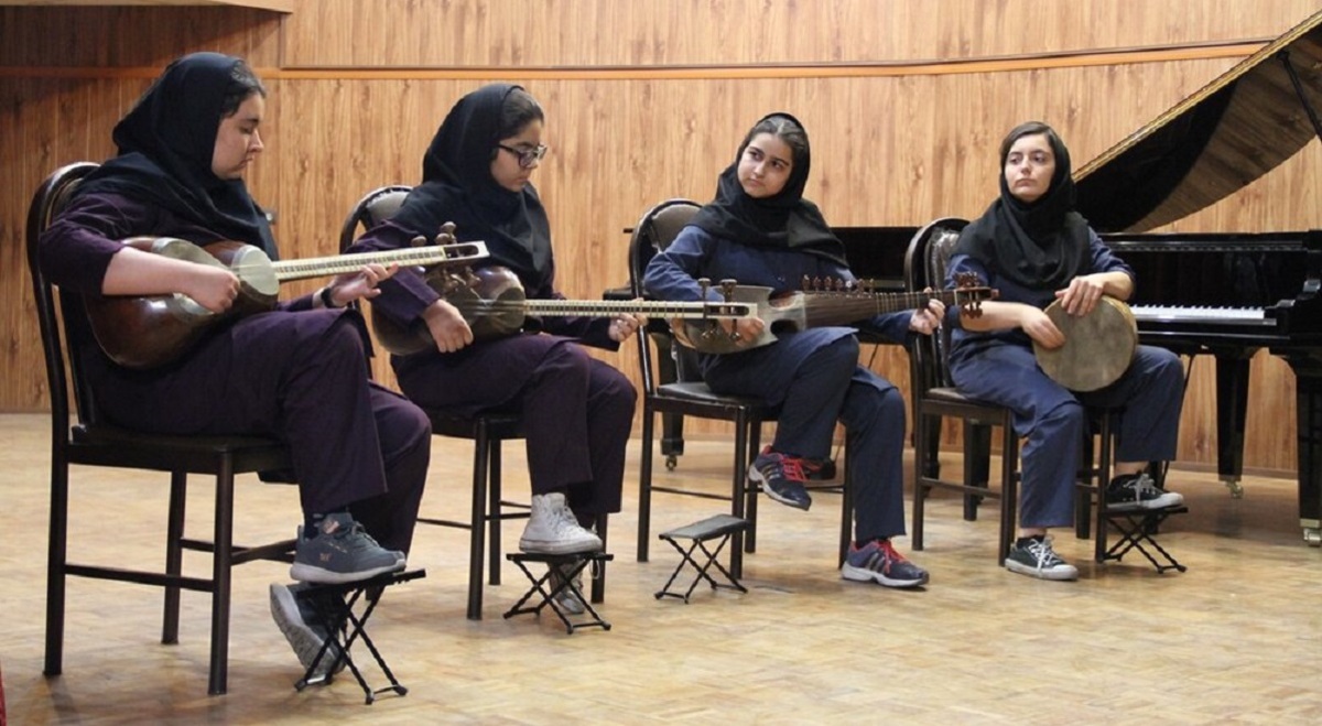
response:
[[[455,222],[460,241],[484,241],[489,264],[513,270],[526,290],[539,290],[551,274],[551,226],[531,182],[510,192],[492,177],[505,101],[521,86],[493,83],[465,95],[449,110],[422,160],[415,186],[391,221],[431,238]]]

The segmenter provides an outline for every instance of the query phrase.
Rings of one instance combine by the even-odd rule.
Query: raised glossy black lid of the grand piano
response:
[[[1077,172],[1097,231],[1145,231],[1243,189],[1317,131],[1286,71],[1322,106],[1322,12],[1292,28]]]

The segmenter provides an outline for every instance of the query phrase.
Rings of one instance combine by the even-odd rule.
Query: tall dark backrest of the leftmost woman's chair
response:
[[[28,208],[26,253],[28,271],[32,274],[32,292],[37,308],[37,321],[41,325],[41,348],[46,358],[46,383],[50,391],[50,415],[54,422],[56,442],[66,442],[69,436],[69,389],[70,378],[74,393],[74,410],[81,423],[94,423],[97,419],[94,398],[90,386],[82,376],[82,350],[79,345],[90,341],[70,331],[86,329],[82,316],[82,300],[73,292],[61,291],[58,311],[54,286],[41,271],[41,234],[59,216],[74,188],[99,164],[78,161],[56,169],[41,182]],[[69,374],[65,373],[67,357]]]

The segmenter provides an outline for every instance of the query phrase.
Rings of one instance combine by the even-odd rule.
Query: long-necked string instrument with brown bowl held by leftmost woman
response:
[[[221,267],[239,278],[239,295],[230,309],[215,313],[186,295],[87,295],[83,303],[93,335],[116,364],[147,369],[165,365],[189,350],[206,331],[223,321],[264,312],[275,305],[280,283],[342,275],[364,264],[468,264],[488,257],[484,242],[406,247],[381,253],[272,262],[259,247],[241,242],[198,246],[173,237],[132,237],[134,249]]]

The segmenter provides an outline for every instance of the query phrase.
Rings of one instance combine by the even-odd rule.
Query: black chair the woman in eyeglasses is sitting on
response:
[[[390,185],[364,194],[340,227],[340,250],[346,250],[360,231],[399,210],[411,186]],[[527,518],[526,504],[506,501],[501,493],[501,444],[524,438],[520,414],[484,413],[476,417],[456,415],[446,410],[424,409],[434,435],[473,442],[473,492],[467,521],[418,517],[422,524],[467,529],[468,542],[468,619],[483,619],[483,554],[486,554],[488,582],[501,583],[501,522]],[[485,525],[485,526],[484,526]],[[596,534],[605,542],[607,517],[598,517]],[[592,578],[591,600],[605,599],[605,573],[598,569]]]

